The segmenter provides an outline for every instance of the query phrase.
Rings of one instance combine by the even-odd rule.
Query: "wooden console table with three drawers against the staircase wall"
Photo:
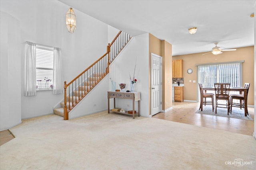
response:
[[[132,100],[132,118],[134,119],[134,115],[138,114],[140,116],[140,92],[108,92],[108,113],[112,111],[109,109],[109,99],[114,98],[114,108],[116,108],[116,98],[118,99],[131,99]],[[138,113],[134,113],[134,102],[138,101]],[[120,112],[120,111],[113,111],[116,113],[122,113],[126,115],[131,115],[128,111]]]

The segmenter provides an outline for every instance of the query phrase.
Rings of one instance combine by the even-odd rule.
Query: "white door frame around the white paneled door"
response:
[[[163,99],[162,99],[162,96],[163,96],[163,94],[162,94],[162,56],[160,56],[160,55],[156,55],[156,54],[154,54],[154,53],[150,53],[150,117],[152,117],[152,113],[153,113],[153,106],[152,106],[152,90],[151,90],[151,84],[152,84],[152,79],[151,79],[151,76],[152,76],[152,55],[154,55],[154,57],[158,57],[158,58],[160,58],[160,62],[161,62],[161,68],[160,68],[160,81],[161,81],[161,85],[160,85],[160,99],[161,99],[161,109],[160,109],[160,111],[162,111],[163,109],[162,109],[162,101],[163,101]]]

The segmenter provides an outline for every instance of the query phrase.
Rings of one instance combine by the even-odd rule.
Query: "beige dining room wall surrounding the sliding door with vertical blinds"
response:
[[[242,84],[250,83],[248,93],[248,105],[254,105],[254,46],[237,48],[236,51],[224,51],[220,55],[212,53],[203,55],[204,53],[195,53],[189,55],[173,56],[172,60],[183,59],[183,76],[184,76],[184,100],[197,100],[198,82],[196,80],[196,64],[222,63],[229,61],[241,61],[242,64]],[[188,68],[192,68],[193,73],[188,74]],[[189,82],[192,80],[192,82]]]

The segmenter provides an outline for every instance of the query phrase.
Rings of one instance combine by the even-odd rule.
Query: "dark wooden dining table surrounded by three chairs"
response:
[[[207,91],[215,91],[214,87],[202,87],[201,88],[201,101],[203,101],[203,94]],[[239,92],[239,94],[242,94],[244,92],[244,116],[247,116],[247,88],[243,87],[230,87],[230,92]],[[203,110],[203,102],[200,102],[200,108],[201,111]]]

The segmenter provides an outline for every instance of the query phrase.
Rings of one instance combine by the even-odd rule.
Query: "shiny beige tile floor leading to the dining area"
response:
[[[200,103],[195,102],[172,102],[172,110],[165,113],[160,112],[152,117],[244,135],[253,134],[254,121],[195,113],[199,109],[199,105]],[[254,119],[254,108],[248,107],[248,112]]]

